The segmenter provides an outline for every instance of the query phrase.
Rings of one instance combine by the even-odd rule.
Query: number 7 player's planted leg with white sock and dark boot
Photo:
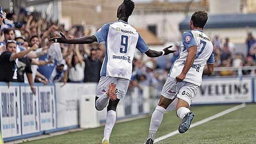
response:
[[[157,107],[151,116],[149,133],[146,144],[153,144],[155,140],[155,135],[157,133],[157,129],[163,120],[163,115],[166,112],[168,106],[173,102],[173,100],[174,99],[168,99],[163,96],[160,97],[159,103],[157,104]]]

